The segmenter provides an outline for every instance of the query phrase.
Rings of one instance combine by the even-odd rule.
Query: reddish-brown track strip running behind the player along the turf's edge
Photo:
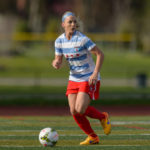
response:
[[[98,106],[111,116],[150,115],[150,106]],[[70,115],[68,106],[1,106],[0,116],[63,116]]]

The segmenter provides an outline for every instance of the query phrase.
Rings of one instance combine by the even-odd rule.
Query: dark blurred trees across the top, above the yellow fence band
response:
[[[150,0],[6,0],[0,1],[0,16],[17,16],[25,31],[51,32],[70,10],[84,22],[85,32],[133,33],[138,48],[149,52],[149,8]]]

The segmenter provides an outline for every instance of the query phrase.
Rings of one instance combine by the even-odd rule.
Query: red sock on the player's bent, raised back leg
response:
[[[105,118],[104,114],[102,114],[96,108],[92,106],[88,106],[88,108],[86,109],[85,115],[90,118],[99,119],[99,120],[102,120]]]

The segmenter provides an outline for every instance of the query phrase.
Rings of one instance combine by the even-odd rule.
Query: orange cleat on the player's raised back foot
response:
[[[102,114],[105,115],[105,118],[101,120],[101,125],[102,125],[102,127],[104,129],[104,133],[106,135],[108,135],[111,132],[111,123],[110,123],[110,121],[108,119],[108,113],[103,112]]]

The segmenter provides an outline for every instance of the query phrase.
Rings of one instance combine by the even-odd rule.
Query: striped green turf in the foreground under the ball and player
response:
[[[0,117],[0,150],[149,150],[150,116],[111,117],[112,133],[103,134],[97,120],[90,120],[98,133],[100,144],[79,146],[86,136],[69,116],[17,116]],[[64,121],[65,120],[65,121]],[[38,134],[42,128],[58,131],[59,141],[53,148],[42,147]]]

